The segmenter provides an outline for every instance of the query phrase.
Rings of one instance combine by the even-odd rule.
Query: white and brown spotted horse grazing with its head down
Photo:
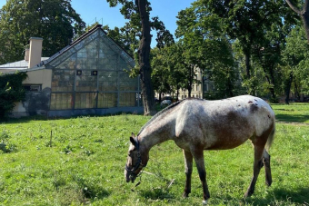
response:
[[[254,193],[257,176],[264,166],[265,183],[272,175],[269,150],[274,139],[274,111],[264,100],[250,96],[205,101],[185,99],[166,107],[145,123],[130,147],[125,164],[125,179],[135,181],[149,160],[150,149],[173,140],[184,152],[186,181],[184,197],[191,192],[193,159],[204,191],[204,203],[210,197],[204,168],[204,150],[233,149],[250,139],[254,146],[254,176],[244,197]]]

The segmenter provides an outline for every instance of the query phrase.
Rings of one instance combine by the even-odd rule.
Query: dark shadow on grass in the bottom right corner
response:
[[[290,191],[287,189],[275,189],[268,193],[265,199],[261,200],[259,197],[252,197],[245,200],[247,203],[254,205],[269,205],[269,204],[300,204],[309,205],[309,187],[300,188],[297,191]]]

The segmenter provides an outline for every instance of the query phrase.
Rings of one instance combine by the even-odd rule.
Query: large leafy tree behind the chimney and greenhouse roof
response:
[[[71,0],[7,0],[0,10],[0,63],[23,57],[30,37],[42,37],[43,56],[51,56],[81,34],[85,23]]]

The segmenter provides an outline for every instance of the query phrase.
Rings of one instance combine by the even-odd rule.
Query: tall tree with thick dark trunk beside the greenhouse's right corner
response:
[[[158,17],[153,17],[150,20],[149,14],[151,11],[150,3],[147,0],[106,0],[110,6],[122,4],[120,9],[122,15],[129,22],[125,25],[125,32],[139,38],[139,46],[137,54],[135,54],[136,67],[138,74],[141,77],[142,97],[144,103],[145,115],[154,114],[154,87],[151,81],[151,66],[150,66],[150,44],[151,44],[151,29],[157,30],[158,42],[168,42],[170,37],[168,30],[164,24],[159,21]],[[136,51],[135,51],[136,52]]]

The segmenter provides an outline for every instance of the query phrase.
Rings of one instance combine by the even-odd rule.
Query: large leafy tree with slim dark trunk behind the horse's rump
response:
[[[200,0],[211,14],[218,15],[225,21],[225,32],[232,40],[238,41],[240,51],[244,54],[244,85],[247,92],[254,94],[256,82],[252,55],[257,45],[261,45],[267,31],[276,25],[290,24],[294,14],[289,12],[280,1],[230,1]],[[260,47],[259,49],[262,49]],[[256,60],[255,60],[256,61]]]

